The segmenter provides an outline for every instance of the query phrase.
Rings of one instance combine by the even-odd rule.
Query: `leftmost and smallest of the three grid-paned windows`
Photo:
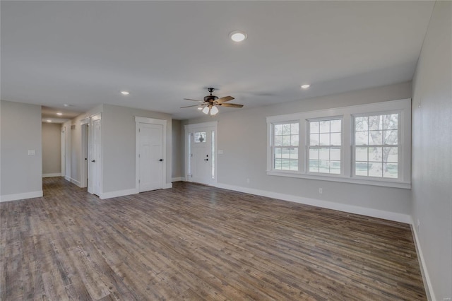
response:
[[[298,170],[299,122],[273,124],[273,169]]]

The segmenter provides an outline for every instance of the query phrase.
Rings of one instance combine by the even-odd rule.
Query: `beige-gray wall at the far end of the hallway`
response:
[[[61,175],[61,124],[42,122],[42,175]]]

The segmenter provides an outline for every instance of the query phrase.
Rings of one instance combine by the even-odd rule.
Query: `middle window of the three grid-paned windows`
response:
[[[340,175],[341,119],[309,120],[309,172]]]

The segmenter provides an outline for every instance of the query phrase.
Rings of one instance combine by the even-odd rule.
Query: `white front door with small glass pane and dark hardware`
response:
[[[190,182],[215,184],[215,138],[214,126],[198,127],[190,132]]]

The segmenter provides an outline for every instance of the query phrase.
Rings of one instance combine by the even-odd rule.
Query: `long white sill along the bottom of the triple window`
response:
[[[411,189],[411,183],[407,182],[395,182],[388,180],[374,180],[374,179],[357,179],[352,177],[344,176],[325,176],[325,175],[308,175],[299,172],[290,171],[275,171],[267,170],[267,175],[273,175],[278,177],[297,177],[301,179],[317,179],[319,181],[330,181],[330,182],[343,182],[352,184],[364,184],[373,186],[383,186],[383,187],[394,187],[402,189]]]

